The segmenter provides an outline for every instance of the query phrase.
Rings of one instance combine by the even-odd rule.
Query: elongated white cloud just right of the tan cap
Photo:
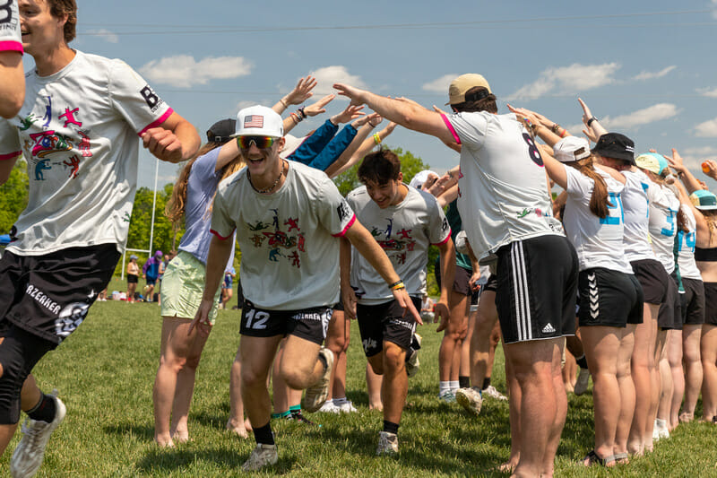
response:
[[[537,80],[515,91],[507,100],[531,100],[556,88],[562,93],[592,90],[606,84],[615,83],[613,74],[619,68],[618,63],[604,63],[602,65],[574,63],[569,66],[549,67],[540,73]]]

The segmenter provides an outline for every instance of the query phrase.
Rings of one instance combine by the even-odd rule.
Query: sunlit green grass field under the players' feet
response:
[[[122,290],[119,282],[110,286]],[[236,303],[236,301],[234,301]],[[204,350],[190,413],[193,441],[174,449],[153,445],[151,388],[159,361],[160,310],[156,304],[100,302],[87,321],[35,369],[46,392],[59,389],[67,416],[48,445],[38,476],[236,476],[254,448],[224,429],[229,416],[229,367],[237,351],[239,313],[220,311]],[[321,428],[274,421],[279,463],[266,474],[289,476],[505,476],[491,469],[510,447],[508,405],[490,401],[479,417],[437,394],[440,335],[423,326],[421,369],[410,379],[399,433],[401,454],[376,458],[381,413],[369,411],[365,358],[358,326],[351,328],[348,396],[358,413],[315,413]],[[503,356],[494,384],[505,391]],[[717,476],[713,425],[690,423],[662,440],[655,452],[630,465],[585,469],[575,461],[592,448],[592,396],[569,396],[566,428],[557,454],[557,476]],[[698,413],[701,404],[698,404]],[[695,413],[696,415],[697,413]],[[19,433],[0,459],[0,474]]]

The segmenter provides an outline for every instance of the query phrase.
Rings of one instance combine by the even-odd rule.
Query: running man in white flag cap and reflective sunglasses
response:
[[[420,321],[384,251],[324,172],[279,156],[281,117],[262,106],[237,116],[237,141],[246,168],[220,183],[212,213],[212,244],[203,300],[192,326],[208,333],[209,312],[237,231],[243,251],[241,391],[256,448],[243,465],[258,470],[279,459],[270,424],[266,378],[277,347],[287,341],[279,373],[289,387],[307,388],[302,408],[318,410],[328,394],[333,353],[321,347],[339,301],[339,238],[349,239],[391,284],[402,309]]]

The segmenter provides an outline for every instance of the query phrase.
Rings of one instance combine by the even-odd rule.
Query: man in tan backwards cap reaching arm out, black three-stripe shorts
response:
[[[531,135],[514,115],[497,115],[496,97],[479,74],[451,83],[454,114],[443,115],[349,85],[334,85],[399,125],[462,144],[458,209],[481,263],[497,267],[496,305],[505,357],[522,395],[517,476],[552,476],[566,417],[560,361],[574,335],[577,256],[559,222]]]

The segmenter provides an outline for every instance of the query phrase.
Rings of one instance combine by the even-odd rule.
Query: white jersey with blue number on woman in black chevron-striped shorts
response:
[[[579,170],[564,165],[567,175],[567,202],[563,218],[567,239],[573,243],[580,270],[604,267],[625,274],[633,269],[625,258],[622,239],[625,230],[623,185],[600,169],[595,169],[608,186],[608,215],[600,219],[590,210],[595,182]]]

